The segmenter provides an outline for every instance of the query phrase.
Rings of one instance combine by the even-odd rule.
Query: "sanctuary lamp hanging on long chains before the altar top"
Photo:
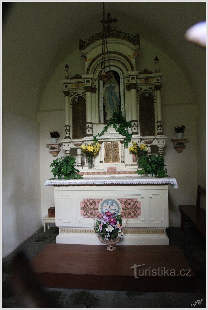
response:
[[[117,18],[112,19],[110,16],[111,14],[107,14],[108,18],[105,19],[105,4],[103,2],[103,19],[100,21],[101,24],[103,24],[103,42],[102,42],[102,59],[101,59],[101,70],[99,75],[99,80],[106,83],[111,79],[111,70],[110,70],[110,61],[109,61],[109,53],[108,53],[108,45],[107,45],[107,39],[106,39],[106,29],[105,29],[105,23],[108,23],[107,27],[108,30],[110,30],[110,23],[117,22]],[[109,67],[109,73],[105,72],[105,62],[106,62],[106,56],[108,61],[108,67]]]

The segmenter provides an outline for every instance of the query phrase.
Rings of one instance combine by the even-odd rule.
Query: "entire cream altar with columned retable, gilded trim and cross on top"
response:
[[[80,39],[84,71],[70,77],[70,66],[66,64],[61,81],[65,137],[62,144],[54,145],[53,156],[62,145],[66,157],[76,157],[76,169],[83,179],[73,176],[72,180],[45,182],[45,186],[54,186],[57,243],[101,244],[94,231],[94,219],[110,206],[115,214],[121,210],[125,226],[118,245],[167,245],[168,185],[177,188],[177,182],[167,177],[162,156],[167,138],[161,107],[163,73],[157,56],[154,71],[136,69],[139,34],[113,29],[111,23],[117,19],[112,19],[110,13],[107,16],[101,21],[103,32]],[[88,165],[83,146],[93,148],[95,142],[94,162]],[[159,165],[163,174],[155,170],[157,177],[148,177],[149,167],[142,176],[135,173],[142,169],[138,154],[131,152],[135,145],[145,147],[146,158],[155,156],[152,167]]]

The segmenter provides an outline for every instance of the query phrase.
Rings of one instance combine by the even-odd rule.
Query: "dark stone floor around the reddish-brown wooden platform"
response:
[[[196,289],[193,293],[171,292],[119,292],[80,289],[46,288],[56,300],[58,308],[206,308],[206,243],[193,227],[180,232],[178,227],[167,230],[170,244],[178,244],[196,275]],[[24,308],[18,296],[14,295],[9,281],[12,257],[23,250],[32,260],[47,244],[55,243],[58,228],[38,230],[23,242],[13,253],[2,260],[2,308]],[[201,305],[191,304],[202,300]]]

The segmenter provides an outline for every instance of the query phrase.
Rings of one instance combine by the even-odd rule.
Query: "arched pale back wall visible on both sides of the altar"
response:
[[[164,52],[141,40],[140,55],[136,58],[136,70],[144,68],[154,71],[155,56],[159,57],[160,72],[163,72],[161,100],[164,134],[167,135],[167,146],[164,157],[168,174],[177,179],[178,189],[169,190],[169,224],[180,225],[178,204],[191,203],[196,200],[196,117],[197,105],[192,89],[178,65]],[[49,132],[58,130],[61,139],[64,137],[64,95],[61,80],[64,78],[64,65],[69,65],[69,76],[84,74],[84,63],[77,49],[62,62],[52,75],[41,101],[38,121],[40,123],[40,179],[42,216],[48,208],[54,206],[53,188],[44,188],[45,180],[52,177],[50,163],[53,157],[49,154],[46,143],[50,142]],[[148,88],[145,84],[144,87]],[[175,137],[174,127],[185,125],[185,137],[189,139],[186,149],[177,153],[171,138]],[[63,151],[60,154],[63,154]]]

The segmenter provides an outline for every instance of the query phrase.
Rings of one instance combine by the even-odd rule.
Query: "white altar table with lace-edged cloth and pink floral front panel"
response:
[[[120,245],[168,245],[168,184],[174,178],[135,175],[83,176],[80,180],[47,180],[54,186],[57,243],[101,244],[94,218],[104,203],[115,203],[126,228]],[[127,219],[125,218],[127,216]]]

